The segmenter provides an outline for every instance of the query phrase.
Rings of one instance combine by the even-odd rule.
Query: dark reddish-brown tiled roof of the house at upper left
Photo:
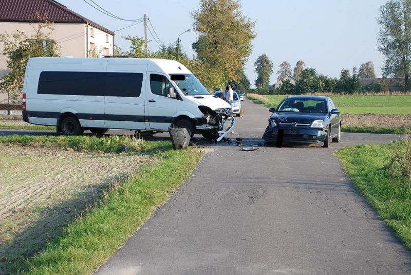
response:
[[[0,0],[0,21],[38,22],[36,12],[54,23],[88,23],[111,35],[113,31],[87,19],[54,0]]]

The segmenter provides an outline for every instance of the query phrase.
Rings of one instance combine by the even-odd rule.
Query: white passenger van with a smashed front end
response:
[[[23,120],[79,135],[108,129],[145,134],[185,127],[190,136],[222,138],[231,116],[179,62],[138,58],[31,58],[23,88]]]

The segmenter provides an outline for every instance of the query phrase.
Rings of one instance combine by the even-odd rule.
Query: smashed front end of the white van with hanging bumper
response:
[[[200,110],[203,112],[201,108]],[[197,119],[196,133],[214,133],[216,141],[219,142],[233,131],[235,118],[231,109],[223,108],[215,111],[207,109],[203,114],[202,118]],[[231,121],[231,124],[225,129],[228,121]]]

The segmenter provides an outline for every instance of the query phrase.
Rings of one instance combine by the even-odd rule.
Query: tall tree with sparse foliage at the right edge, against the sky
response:
[[[384,76],[404,76],[408,90],[411,69],[411,0],[390,0],[380,9],[378,50],[384,54]]]

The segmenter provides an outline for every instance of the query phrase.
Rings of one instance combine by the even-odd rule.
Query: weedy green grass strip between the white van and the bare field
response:
[[[146,142],[129,136],[112,135],[108,137],[94,136],[30,136],[10,135],[0,138],[0,143],[21,146],[39,146],[41,148],[71,148],[76,151],[92,151],[105,153],[143,152],[161,148],[164,142]],[[168,144],[168,142],[166,142]],[[122,150],[122,147],[125,150]]]

